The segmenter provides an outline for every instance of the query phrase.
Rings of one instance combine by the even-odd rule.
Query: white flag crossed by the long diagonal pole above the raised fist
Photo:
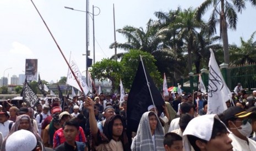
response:
[[[77,77],[78,82],[80,83],[85,95],[87,95],[88,92],[89,92],[89,88],[88,88],[81,72],[79,71],[77,63],[75,63],[75,60],[72,59],[72,60],[70,60],[69,65],[71,66],[72,71],[75,73],[75,76]],[[81,89],[80,89],[80,87],[77,83],[77,80],[75,80],[75,77],[74,77],[74,75],[72,74],[72,72],[70,71],[69,68],[68,68],[67,84],[69,84],[71,86],[74,86],[75,88],[77,88],[78,90],[81,91]]]

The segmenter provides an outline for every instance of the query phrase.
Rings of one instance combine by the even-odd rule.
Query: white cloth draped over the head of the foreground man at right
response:
[[[214,119],[219,120],[226,127],[226,125],[219,119],[219,117],[216,114],[202,115],[200,117],[193,118],[192,120],[189,121],[186,129],[183,132],[183,146],[185,151],[191,150],[190,149],[191,145],[188,141],[187,135],[193,135],[205,141],[211,140],[211,133],[213,133]],[[227,129],[227,131],[229,130]]]

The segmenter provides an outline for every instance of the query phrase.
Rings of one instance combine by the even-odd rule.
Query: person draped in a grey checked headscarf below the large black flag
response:
[[[164,130],[154,112],[145,112],[139,123],[137,135],[133,138],[132,150],[165,150]]]

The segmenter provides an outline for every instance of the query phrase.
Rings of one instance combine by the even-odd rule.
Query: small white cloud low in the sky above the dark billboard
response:
[[[33,55],[32,51],[30,48],[26,47],[26,45],[21,44],[19,42],[13,42],[12,43],[12,48],[10,49],[11,54],[18,54],[18,55]]]

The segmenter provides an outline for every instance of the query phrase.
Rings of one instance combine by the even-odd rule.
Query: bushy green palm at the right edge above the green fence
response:
[[[244,41],[242,37],[241,46],[230,45],[230,54],[232,55],[231,64],[241,65],[245,63],[256,62],[256,41],[253,41],[256,31],[250,36],[247,41]]]

